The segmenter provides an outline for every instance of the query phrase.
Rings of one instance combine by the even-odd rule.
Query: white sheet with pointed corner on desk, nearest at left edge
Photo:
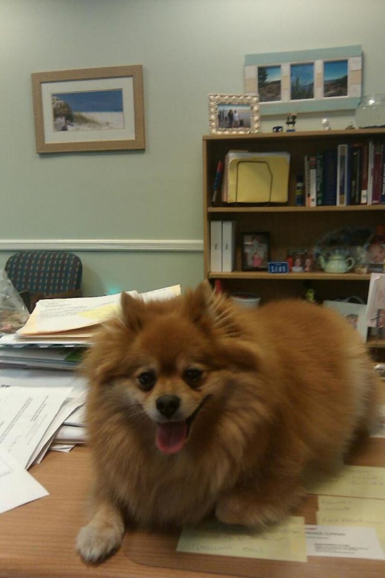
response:
[[[0,513],[47,495],[16,458],[0,447]]]

